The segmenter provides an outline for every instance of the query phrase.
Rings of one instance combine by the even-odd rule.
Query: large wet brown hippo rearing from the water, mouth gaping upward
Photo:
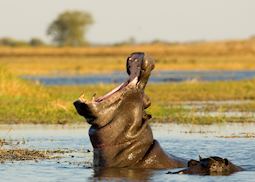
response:
[[[148,124],[151,105],[144,89],[154,69],[154,59],[132,53],[126,62],[129,78],[104,96],[74,102],[77,112],[91,127],[95,167],[178,168],[187,161],[169,155],[153,139]]]

